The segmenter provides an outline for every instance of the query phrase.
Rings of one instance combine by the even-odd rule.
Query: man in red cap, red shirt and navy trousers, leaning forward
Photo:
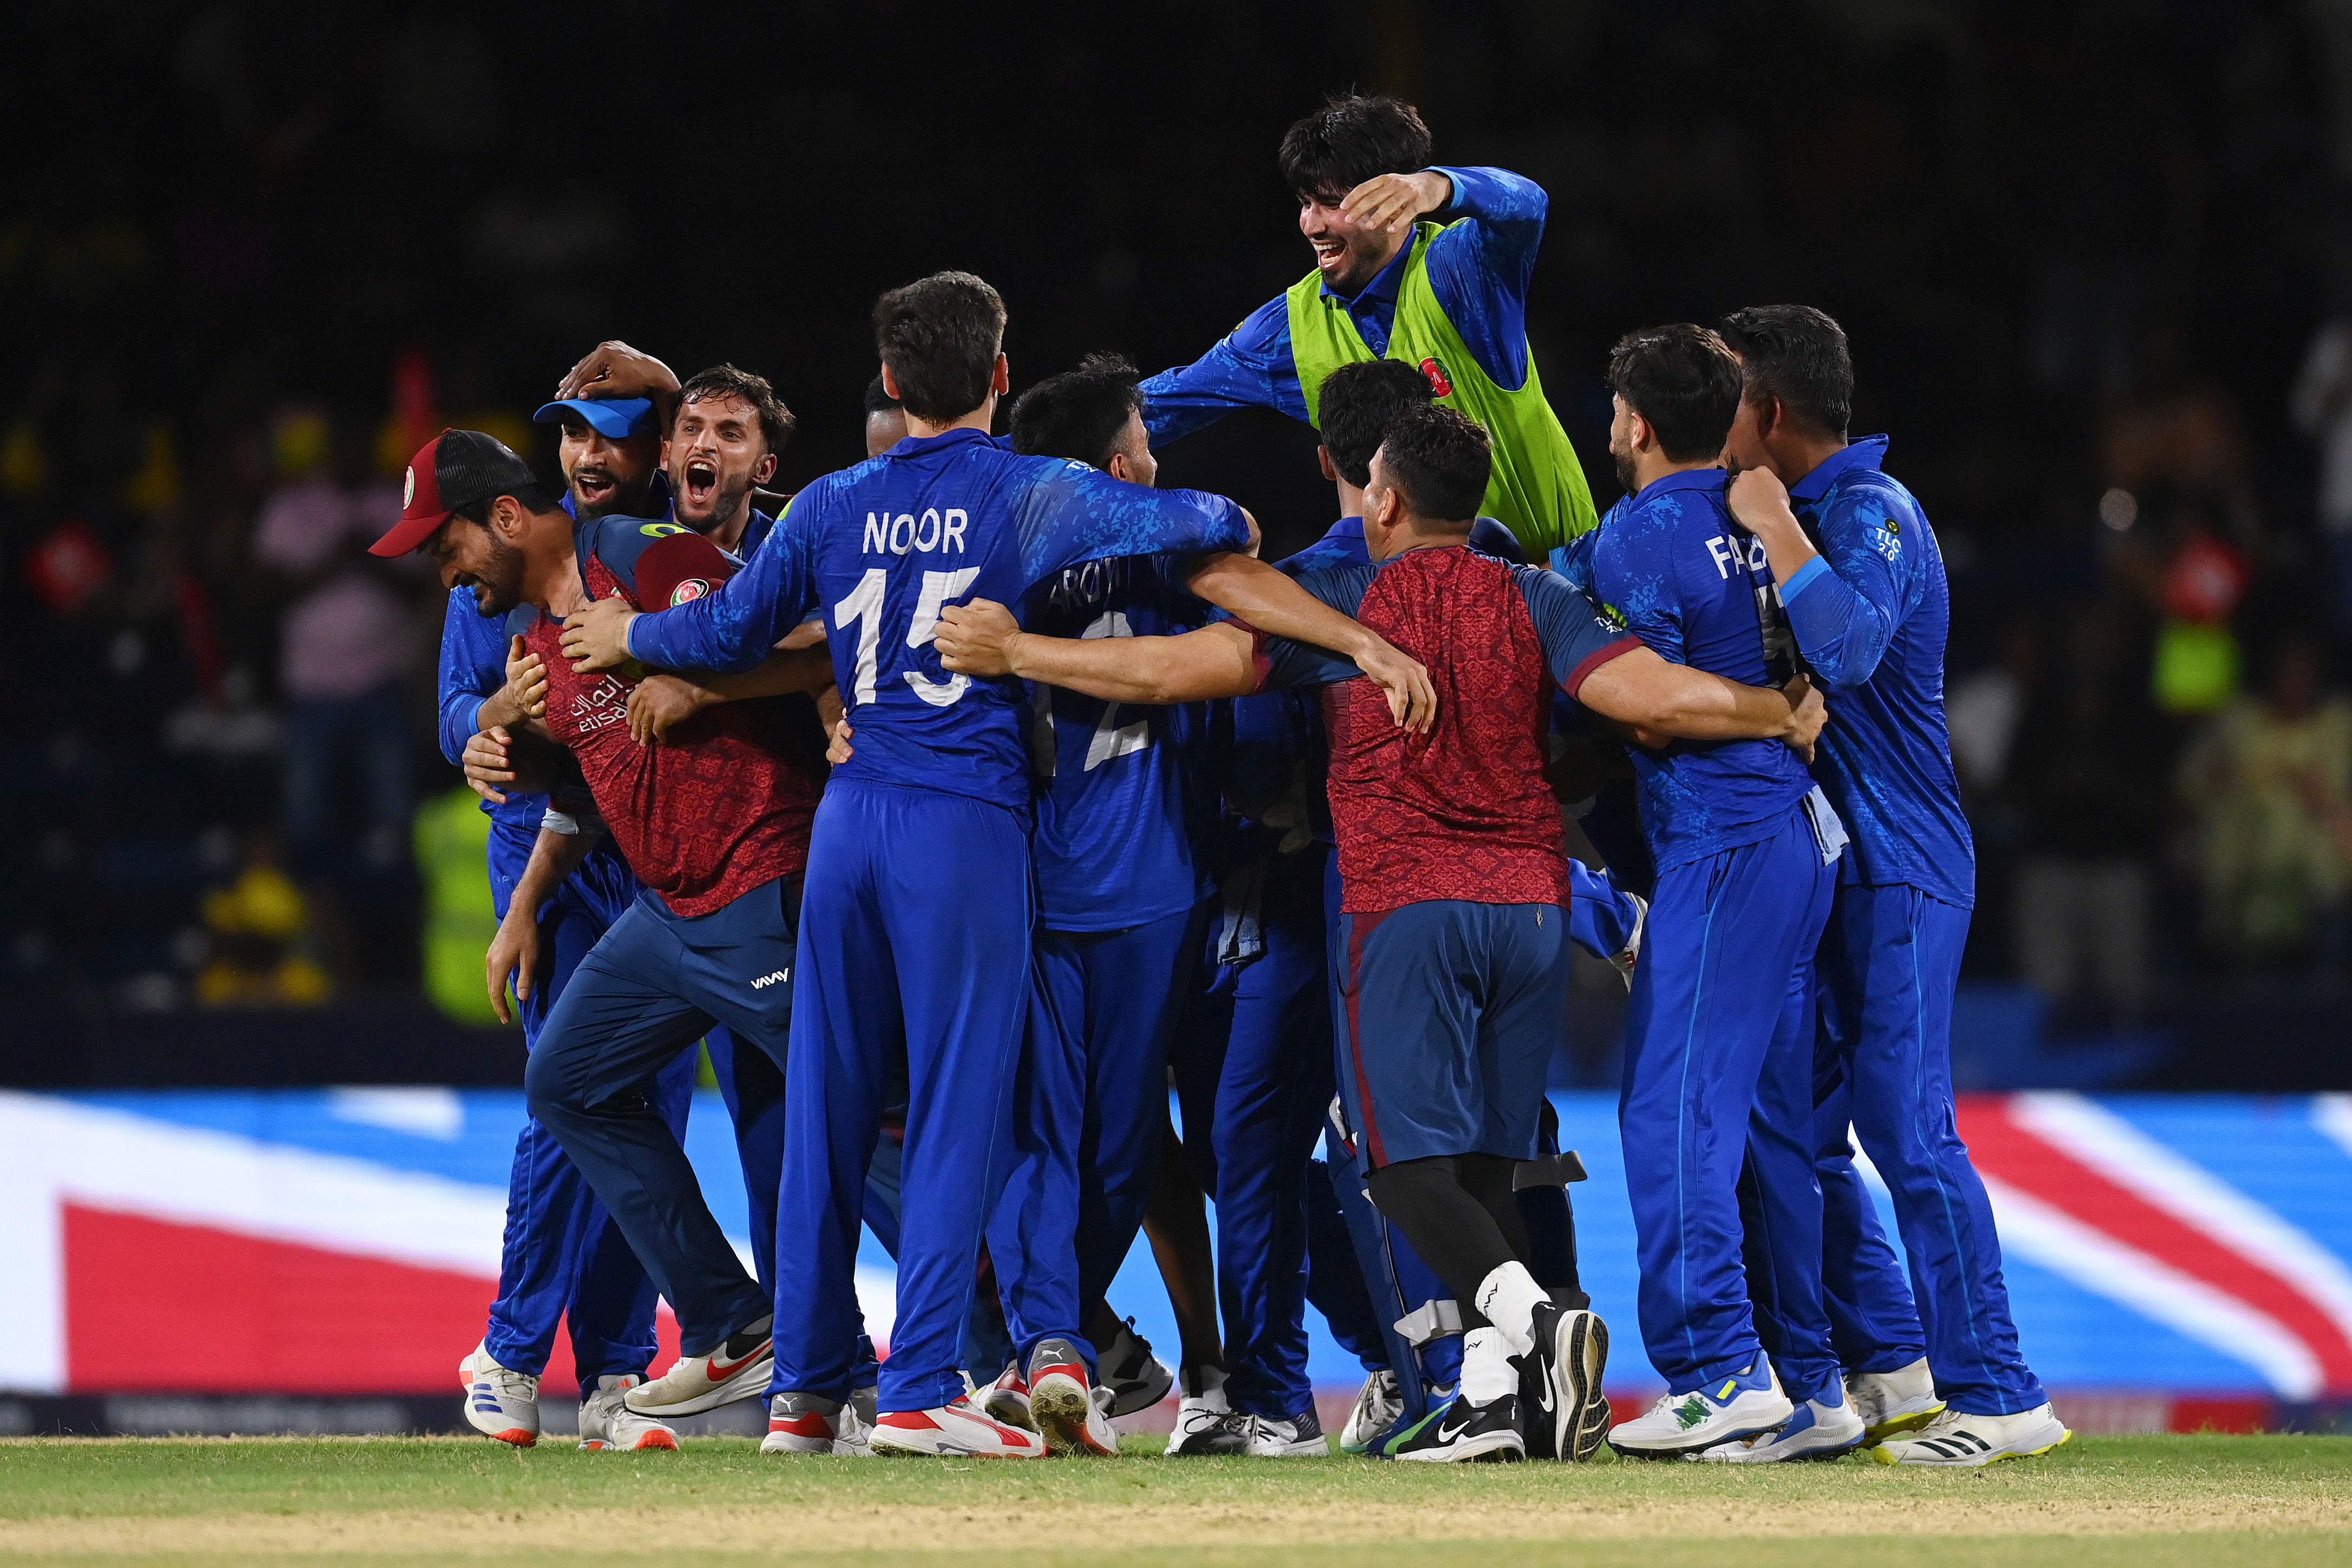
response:
[[[426,550],[485,616],[541,611],[520,635],[546,670],[543,729],[579,759],[644,891],[581,959],[524,1072],[532,1114],[612,1211],[670,1300],[680,1363],[633,1387],[642,1415],[694,1413],[757,1392],[769,1305],[710,1220],[677,1135],[644,1086],[713,1023],[781,1065],[790,1013],[793,919],[818,773],[760,703],[736,703],[670,743],[637,745],[628,686],[553,658],[546,616],[595,597],[684,602],[724,583],[734,559],[691,529],[635,517],[579,522],[539,494],[529,468],[487,435],[452,430],[409,465],[409,501],[376,555]],[[821,654],[776,654],[741,693],[823,684]],[[736,802],[715,811],[717,799]],[[543,830],[492,954],[492,983],[529,959],[534,914],[595,832]],[[506,969],[501,969],[501,959]],[[854,1333],[854,1331],[851,1331]]]

